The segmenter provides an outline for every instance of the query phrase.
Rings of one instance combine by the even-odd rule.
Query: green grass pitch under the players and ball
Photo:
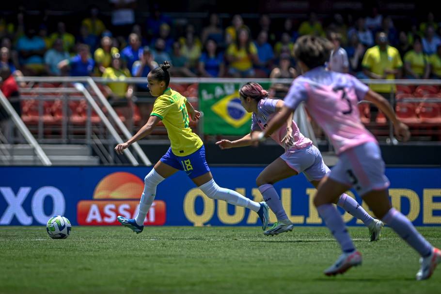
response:
[[[419,230],[441,247],[441,228]],[[0,227],[0,293],[441,293],[441,265],[416,281],[418,255],[391,229],[375,243],[366,228],[349,232],[363,264],[330,278],[340,250],[326,228],[74,227],[52,240],[45,227]]]

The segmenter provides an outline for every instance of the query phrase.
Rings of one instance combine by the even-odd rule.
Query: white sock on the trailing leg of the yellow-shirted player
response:
[[[236,206],[249,208],[254,212],[258,212],[260,209],[260,203],[254,202],[236,191],[219,187],[213,179],[199,186],[199,189],[211,199],[224,200]]]

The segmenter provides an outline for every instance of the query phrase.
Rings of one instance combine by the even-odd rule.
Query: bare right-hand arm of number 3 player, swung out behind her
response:
[[[409,127],[396,117],[391,104],[385,98],[374,91],[369,90],[364,96],[364,100],[374,103],[374,105],[377,106],[378,109],[381,110],[383,114],[392,121],[394,124],[395,134],[399,139],[403,139],[404,141],[409,140]]]

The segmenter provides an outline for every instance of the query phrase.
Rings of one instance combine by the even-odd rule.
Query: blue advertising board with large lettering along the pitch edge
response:
[[[118,214],[133,217],[150,167],[0,167],[0,225],[44,225],[52,215],[73,225],[118,225]],[[255,179],[263,167],[213,167],[222,187],[262,201]],[[417,226],[441,225],[441,168],[387,168],[395,208]],[[302,175],[275,185],[291,220],[322,226],[312,206],[315,189]],[[349,195],[356,193],[349,192]],[[362,206],[367,209],[365,203]],[[343,213],[343,211],[342,211]],[[349,226],[361,225],[347,212]],[[270,221],[275,221],[270,214]],[[207,198],[182,173],[158,186],[146,225],[256,226],[257,214]]]

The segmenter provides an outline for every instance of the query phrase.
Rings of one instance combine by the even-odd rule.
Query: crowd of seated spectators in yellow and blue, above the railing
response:
[[[191,21],[174,22],[157,8],[144,23],[136,23],[135,2],[114,6],[110,22],[101,19],[98,7],[90,7],[77,32],[68,32],[63,21],[52,32],[44,21],[26,22],[25,12],[13,20],[0,16],[0,66],[9,67],[13,75],[121,79],[146,77],[168,60],[173,76],[294,78],[299,74],[294,42],[314,34],[334,43],[328,64],[332,70],[373,79],[441,76],[441,26],[431,12],[408,28],[395,27],[393,19],[376,8],[358,17],[335,14],[320,19],[310,13],[304,21],[286,18],[277,27],[265,14],[253,24],[235,15],[225,26],[211,14],[206,26],[195,27]],[[145,89],[139,85],[137,90]]]

